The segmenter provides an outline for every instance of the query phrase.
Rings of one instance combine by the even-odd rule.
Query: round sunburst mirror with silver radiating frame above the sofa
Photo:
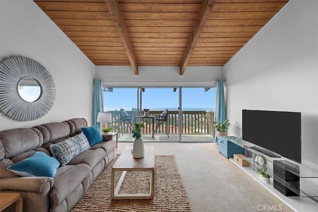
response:
[[[32,121],[47,114],[55,101],[52,75],[35,60],[13,57],[0,64],[0,110],[19,120]]]

